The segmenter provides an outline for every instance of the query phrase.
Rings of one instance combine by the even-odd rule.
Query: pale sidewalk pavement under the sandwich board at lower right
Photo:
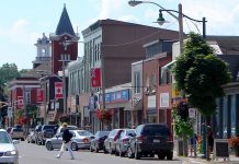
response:
[[[201,155],[197,157],[185,157],[178,156],[177,151],[173,151],[174,159],[182,161],[182,164],[239,164],[239,157],[235,155],[229,155],[229,161],[224,161],[224,159],[218,159],[218,161],[213,161],[213,154],[210,155],[210,161],[206,161],[206,159],[202,159]]]

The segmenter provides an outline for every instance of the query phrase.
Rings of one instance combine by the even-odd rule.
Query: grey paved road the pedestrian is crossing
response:
[[[26,143],[25,141],[21,141],[16,147],[20,152],[20,164],[182,164],[182,161],[177,157],[173,161],[159,161],[157,156],[134,160],[104,153],[91,153],[87,150],[75,152],[76,160],[70,160],[68,152],[65,152],[58,160],[55,157],[58,150],[47,151],[44,145]]]

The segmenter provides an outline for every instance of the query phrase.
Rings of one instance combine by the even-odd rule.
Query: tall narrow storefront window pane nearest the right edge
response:
[[[231,137],[236,134],[236,95],[231,95],[230,102],[231,110],[230,110],[230,125],[231,125]]]

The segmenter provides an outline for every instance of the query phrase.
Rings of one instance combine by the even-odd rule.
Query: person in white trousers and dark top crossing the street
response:
[[[59,153],[56,155],[57,159],[60,159],[60,156],[62,155],[65,149],[67,148],[69,154],[70,154],[70,157],[71,160],[75,160],[75,156],[73,156],[73,152],[70,148],[71,145],[71,141],[70,139],[72,138],[72,133],[69,131],[69,129],[67,128],[67,122],[64,122],[62,124],[62,128],[64,128],[64,132],[62,132],[62,144],[61,144],[61,148],[60,148],[60,151]]]

